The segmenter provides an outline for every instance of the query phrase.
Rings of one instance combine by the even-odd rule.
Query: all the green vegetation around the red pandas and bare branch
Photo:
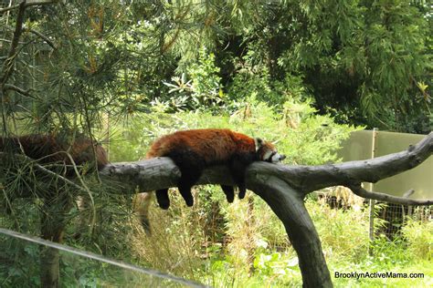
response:
[[[276,141],[290,164],[316,165],[338,160],[335,150],[354,126],[414,133],[433,126],[425,1],[74,0],[28,7],[15,51],[17,9],[5,7],[2,136],[79,132],[102,140],[112,161],[126,161],[143,158],[166,132],[224,127]],[[0,224],[37,235],[42,201],[8,200],[50,180],[26,163],[6,164],[19,169],[1,175],[12,184],[2,184],[8,215]],[[93,204],[70,211],[69,244],[215,286],[301,283],[283,227],[252,193],[228,205],[218,189],[200,187],[193,209],[174,193],[170,211],[153,209],[148,239],[132,217],[131,195],[114,196],[115,185],[94,172],[83,170]],[[394,242],[369,242],[364,209],[307,203],[332,272],[432,273],[431,222],[408,221]],[[28,248],[27,265],[0,269],[0,283],[21,283],[35,254]],[[100,268],[87,264],[80,263],[89,267],[80,283],[92,285]]]

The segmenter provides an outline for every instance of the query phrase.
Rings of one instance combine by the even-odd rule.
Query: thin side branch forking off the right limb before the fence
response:
[[[395,204],[402,204],[402,205],[431,205],[433,204],[433,200],[413,200],[413,199],[407,199],[408,196],[404,197],[397,197],[385,193],[379,193],[379,192],[373,192],[373,191],[367,191],[364,190],[364,188],[361,187],[361,185],[350,185],[347,186],[350,190],[352,190],[356,195],[367,198],[367,199],[374,199],[377,201],[385,201],[389,203],[395,203]],[[409,190],[408,192],[413,193],[413,191]],[[410,195],[410,194],[409,194]]]

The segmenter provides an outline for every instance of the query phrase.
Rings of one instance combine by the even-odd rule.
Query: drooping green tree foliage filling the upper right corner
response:
[[[431,68],[426,46],[431,15],[425,7],[333,0],[261,8],[263,21],[248,24],[244,34],[245,55],[256,71],[265,71],[255,77],[270,75],[273,82],[301,75],[319,111],[345,123],[428,132],[431,122],[422,123],[429,119],[431,101],[417,85],[429,81]]]

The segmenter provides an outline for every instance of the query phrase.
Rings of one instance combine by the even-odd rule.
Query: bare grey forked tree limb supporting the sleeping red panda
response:
[[[279,217],[298,253],[304,287],[331,287],[319,235],[305,209],[303,199],[313,190],[343,185],[355,194],[378,201],[408,205],[431,205],[433,200],[417,201],[384,193],[366,191],[361,182],[376,182],[410,170],[433,152],[433,132],[406,151],[383,157],[322,166],[275,165],[255,162],[247,170],[248,190],[254,191]],[[431,171],[430,171],[431,172]],[[101,176],[119,180],[125,187],[152,191],[174,187],[180,171],[168,158],[138,162],[112,163],[100,171]],[[204,171],[197,184],[233,185],[227,168],[217,166]]]

